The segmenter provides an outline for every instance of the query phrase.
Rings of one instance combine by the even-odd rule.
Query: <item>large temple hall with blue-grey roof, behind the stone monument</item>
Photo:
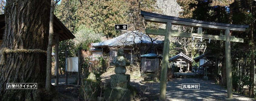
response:
[[[147,51],[152,41],[153,46]],[[157,55],[162,54],[162,46],[160,44],[163,44],[163,41],[150,38],[142,32],[129,31],[113,39],[92,43],[91,52],[92,57],[110,57],[110,60],[112,60],[117,56],[117,49],[123,49],[125,58],[133,63],[135,61],[135,56],[141,56],[148,53]],[[135,47],[140,48],[139,50],[134,50],[137,49]]]

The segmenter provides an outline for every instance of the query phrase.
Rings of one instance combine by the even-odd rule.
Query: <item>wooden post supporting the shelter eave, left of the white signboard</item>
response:
[[[59,85],[59,35],[56,34],[55,36],[56,44],[55,44],[55,85]]]

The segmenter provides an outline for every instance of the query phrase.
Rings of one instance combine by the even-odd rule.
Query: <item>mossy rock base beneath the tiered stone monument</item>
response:
[[[112,89],[108,85],[104,91],[104,99],[107,101],[134,101],[133,97],[137,94],[134,86],[128,86],[128,89]]]

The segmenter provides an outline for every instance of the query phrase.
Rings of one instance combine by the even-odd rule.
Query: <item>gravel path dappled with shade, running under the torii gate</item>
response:
[[[102,75],[103,82],[109,81],[113,70],[110,69]],[[182,90],[182,83],[199,83],[200,90]],[[141,79],[131,79],[130,84],[136,86],[140,100],[159,99],[160,82],[142,82]],[[226,96],[227,90],[211,80],[195,78],[172,79],[172,81],[167,82],[166,87],[166,99],[171,101],[225,101]],[[234,99],[231,101],[256,101],[237,93],[233,93],[233,97]]]

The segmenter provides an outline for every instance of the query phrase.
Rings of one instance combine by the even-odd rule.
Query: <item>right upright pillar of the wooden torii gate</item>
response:
[[[230,52],[230,34],[229,30],[225,30],[226,42],[226,71],[227,71],[227,97],[231,99],[233,97],[232,89],[232,71],[231,71],[231,52]]]

